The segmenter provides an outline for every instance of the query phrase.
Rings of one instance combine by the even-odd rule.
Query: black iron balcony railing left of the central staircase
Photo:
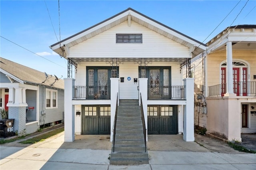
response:
[[[110,86],[73,86],[74,99],[110,99]]]

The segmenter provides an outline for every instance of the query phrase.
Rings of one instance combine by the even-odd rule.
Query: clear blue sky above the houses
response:
[[[58,0],[0,0],[0,36],[33,52],[1,37],[0,56],[66,78],[67,61],[49,46],[129,7],[204,43],[229,26],[256,24],[256,0],[60,0],[60,24]]]

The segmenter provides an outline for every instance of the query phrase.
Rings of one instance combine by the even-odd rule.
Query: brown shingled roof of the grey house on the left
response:
[[[14,81],[18,81],[22,84],[35,83],[38,85],[50,86],[50,84],[54,83],[55,81],[55,76],[52,76],[48,79],[49,81],[46,81],[47,83],[42,83],[46,79],[43,72],[15,63],[8,59],[4,59],[2,57],[0,57],[0,71],[6,74],[9,79],[13,79]],[[51,87],[64,89],[64,80],[59,79]]]

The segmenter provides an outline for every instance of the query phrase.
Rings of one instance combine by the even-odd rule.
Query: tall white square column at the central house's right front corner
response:
[[[185,87],[186,105],[184,105],[183,140],[194,141],[194,78],[183,79]]]

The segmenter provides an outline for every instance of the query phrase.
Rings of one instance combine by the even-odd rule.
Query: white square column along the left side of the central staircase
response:
[[[116,115],[116,97],[117,93],[119,93],[119,78],[110,78],[110,142],[113,141],[113,132],[112,128],[114,125],[114,119]],[[119,105],[119,94],[118,94],[118,105]]]

